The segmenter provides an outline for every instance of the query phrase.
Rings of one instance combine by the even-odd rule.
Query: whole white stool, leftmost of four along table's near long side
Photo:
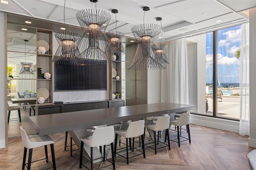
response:
[[[93,169],[93,147],[97,147],[97,146],[104,146],[104,154],[103,154],[103,161],[105,161],[105,148],[106,148],[106,144],[110,144],[111,145],[111,152],[112,152],[112,162],[110,160],[108,160],[108,158],[106,158],[109,162],[112,163],[113,165],[113,169],[115,169],[115,159],[114,159],[114,127],[110,126],[110,127],[102,127],[102,128],[96,128],[92,134],[92,136],[88,136],[86,138],[81,138],[81,149],[80,149],[80,163],[79,163],[79,168],[82,168],[83,162],[83,148],[84,148],[84,143],[87,144],[88,146],[91,147],[91,159],[90,159],[90,163],[91,163],[91,170]],[[111,165],[111,164],[110,164]],[[107,165],[107,166],[110,166]],[[84,165],[85,166],[85,165]],[[107,167],[104,166],[104,167]],[[85,166],[86,167],[86,166]],[[104,168],[104,167],[100,167],[100,168]],[[87,167],[86,167],[87,168]],[[87,168],[89,169],[89,168]]]

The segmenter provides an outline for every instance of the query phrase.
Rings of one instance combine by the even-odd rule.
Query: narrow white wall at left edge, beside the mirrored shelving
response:
[[[5,53],[5,15],[0,12],[0,148],[8,146],[7,136],[7,58]]]

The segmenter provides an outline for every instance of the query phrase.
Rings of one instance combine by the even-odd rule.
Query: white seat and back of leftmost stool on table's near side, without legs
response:
[[[81,138],[90,147],[103,146],[114,142],[114,127],[96,128],[92,136]]]

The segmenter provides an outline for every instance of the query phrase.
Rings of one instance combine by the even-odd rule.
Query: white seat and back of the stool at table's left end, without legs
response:
[[[22,137],[22,143],[25,148],[36,148],[39,146],[44,146],[48,144],[54,144],[54,141],[52,138],[50,138],[48,135],[42,135],[42,136],[35,136],[28,138],[28,135],[26,131],[20,126],[20,134]]]

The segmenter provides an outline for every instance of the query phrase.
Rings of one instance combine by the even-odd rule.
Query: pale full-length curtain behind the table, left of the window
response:
[[[167,43],[170,59],[161,71],[161,102],[189,104],[186,38]]]

